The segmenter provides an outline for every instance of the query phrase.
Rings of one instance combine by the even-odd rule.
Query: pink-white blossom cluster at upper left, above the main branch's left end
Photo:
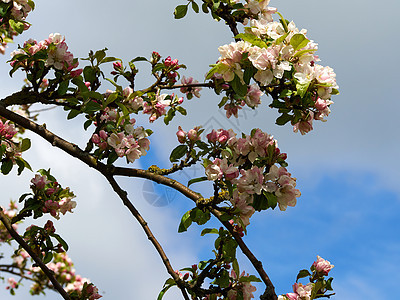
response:
[[[39,64],[40,62],[44,63],[44,66]],[[28,76],[29,81],[33,80],[35,83],[40,81],[38,84],[41,84],[43,75],[50,69],[69,74],[70,77],[76,77],[82,73],[82,69],[75,69],[79,65],[78,59],[68,51],[65,37],[59,33],[51,33],[47,39],[40,42],[29,39],[23,47],[11,52],[10,64],[13,67],[12,72],[22,68],[31,74]]]

